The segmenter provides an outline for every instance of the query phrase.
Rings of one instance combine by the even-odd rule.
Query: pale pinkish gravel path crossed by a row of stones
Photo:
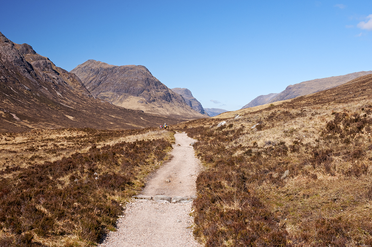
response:
[[[190,143],[195,140],[186,134],[175,134],[172,158],[150,177],[142,195],[164,195],[173,198],[192,198],[195,181],[201,169]],[[126,206],[118,220],[116,232],[110,232],[100,247],[133,246],[197,246],[192,235],[193,218],[189,215],[192,202],[135,200]]]

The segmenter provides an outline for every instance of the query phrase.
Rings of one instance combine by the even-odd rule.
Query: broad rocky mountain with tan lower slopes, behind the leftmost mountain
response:
[[[95,97],[116,106],[177,118],[205,117],[142,65],[115,66],[88,60],[70,72],[76,74]]]

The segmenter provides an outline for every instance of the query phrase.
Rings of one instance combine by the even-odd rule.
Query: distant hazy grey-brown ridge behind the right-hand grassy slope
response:
[[[281,100],[293,99],[298,96],[304,96],[311,93],[320,92],[323,90],[331,89],[340,86],[348,81],[351,81],[360,76],[372,74],[372,71],[360,71],[343,76],[332,76],[327,78],[315,79],[310,81],[303,81],[294,85],[289,85],[280,93],[270,93],[267,95],[260,95],[256,99],[243,106],[241,109],[253,106],[264,105]]]

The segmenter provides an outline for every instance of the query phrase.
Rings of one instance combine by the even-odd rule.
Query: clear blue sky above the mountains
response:
[[[144,65],[203,108],[372,70],[372,1],[4,1],[0,32],[67,71]]]

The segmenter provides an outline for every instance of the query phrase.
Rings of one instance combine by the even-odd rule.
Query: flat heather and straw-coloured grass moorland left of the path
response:
[[[0,134],[0,246],[91,246],[174,142],[161,130]]]

